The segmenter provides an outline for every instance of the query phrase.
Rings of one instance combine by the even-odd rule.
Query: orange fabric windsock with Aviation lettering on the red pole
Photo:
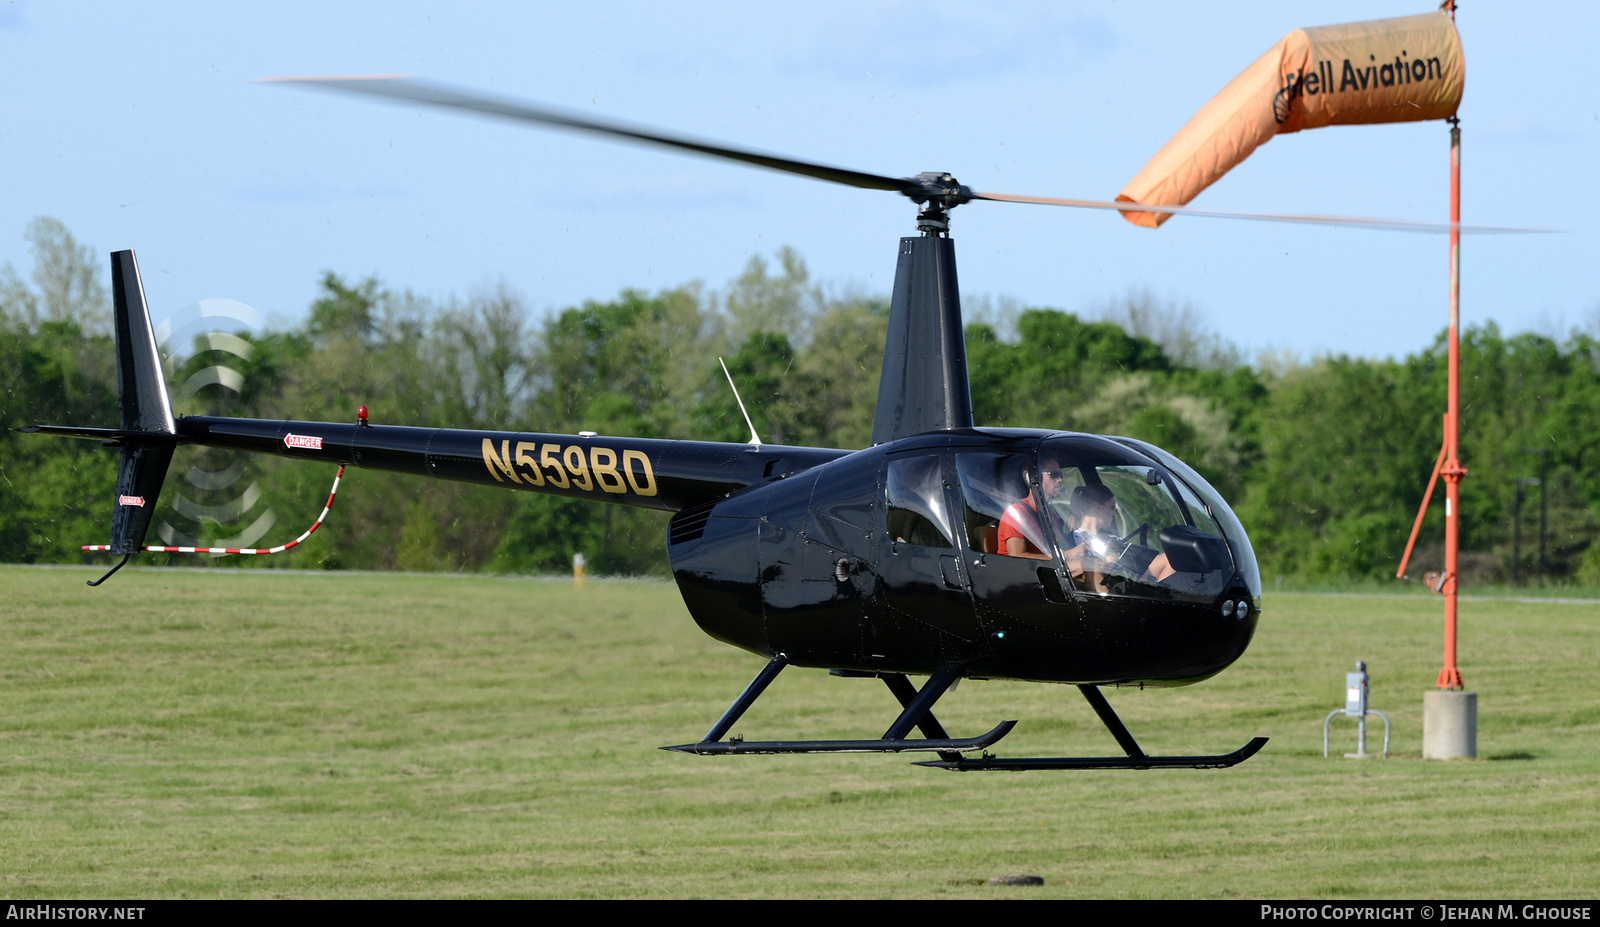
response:
[[[1464,85],[1461,35],[1443,11],[1296,29],[1200,107],[1117,200],[1182,207],[1275,134],[1446,118]],[[1122,218],[1154,229],[1171,216]]]

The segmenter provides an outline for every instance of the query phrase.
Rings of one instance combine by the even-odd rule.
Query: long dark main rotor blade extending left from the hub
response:
[[[784,159],[778,155],[752,152],[736,147],[728,147],[723,144],[701,141],[685,136],[667,134],[664,131],[634,126],[619,122],[603,122],[597,118],[589,118],[587,115],[578,115],[574,112],[563,112],[558,109],[550,109],[546,106],[538,106],[531,102],[518,102],[496,96],[486,96],[480,93],[454,90],[432,82],[418,80],[406,75],[355,75],[355,77],[261,77],[258,82],[262,83],[298,83],[302,86],[315,86],[322,90],[339,90],[344,93],[365,93],[368,96],[381,96],[386,99],[402,101],[402,102],[419,102],[422,106],[437,106],[440,109],[464,109],[469,112],[478,112],[483,115],[496,115],[501,118],[509,118],[514,122],[531,122],[536,125],[547,125],[554,128],[565,128],[573,131],[587,131],[594,134],[622,138],[643,144],[656,144],[664,147],[675,147],[682,150],[690,150],[701,155],[718,157],[734,162],[742,162],[749,165],[758,165],[763,168],[771,168],[774,171],[784,171],[790,175],[802,175],[808,178],[816,178],[819,181],[830,181],[835,184],[846,184],[851,187],[866,187],[869,191],[891,191],[896,194],[906,194],[910,197],[922,194],[922,186],[902,179],[902,178],[886,178],[880,175],[869,175],[862,171],[851,171],[845,168],[835,168],[829,165],[818,165],[811,162],[798,162],[794,159]]]

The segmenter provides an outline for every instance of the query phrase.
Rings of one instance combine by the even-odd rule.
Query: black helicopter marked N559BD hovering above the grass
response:
[[[754,427],[749,443],[400,427],[370,424],[365,408],[355,423],[174,418],[138,263],[133,251],[117,251],[122,426],[24,429],[120,448],[112,538],[101,549],[122,560],[91,584],[155,549],[144,538],[176,445],[237,448],[674,512],[667,556],[690,615],[768,663],[704,738],[664,749],[934,752],[939,759],[920,765],[1029,770],[1221,768],[1266,744],[1258,736],[1218,756],[1150,756],[1099,690],[1200,682],[1250,645],[1261,575],[1222,496],[1141,440],[974,427],[968,391],[950,210],[971,200],[1197,210],[979,194],[947,173],[840,170],[410,78],[274,80],[667,146],[910,199],[920,207],[918,234],[899,240],[872,447],[763,445]],[[726,738],[789,664],[877,676],[901,712],[877,740]],[[917,688],[909,676],[928,680]],[[1077,685],[1125,756],[990,756],[1014,720],[952,738],[931,709],[963,677]]]

